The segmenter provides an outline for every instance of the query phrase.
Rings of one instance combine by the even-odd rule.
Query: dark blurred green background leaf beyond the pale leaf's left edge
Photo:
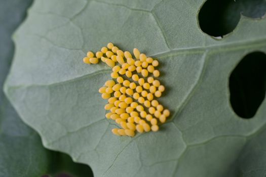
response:
[[[24,19],[25,10],[31,2],[0,0],[1,87],[14,52],[11,35]],[[57,176],[62,172],[71,176],[93,176],[87,165],[73,163],[68,155],[45,149],[39,135],[22,122],[1,90],[0,176]]]

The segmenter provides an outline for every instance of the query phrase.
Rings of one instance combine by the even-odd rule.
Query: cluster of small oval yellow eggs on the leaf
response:
[[[165,123],[170,115],[170,111],[155,100],[165,91],[164,85],[156,79],[160,76],[159,70],[155,69],[158,60],[146,57],[136,48],[133,54],[135,59],[130,52],[108,43],[107,48],[101,48],[95,55],[88,52],[83,59],[86,64],[97,64],[101,60],[112,68],[112,79],[100,87],[99,93],[103,99],[108,99],[104,109],[110,112],[106,118],[121,126],[112,129],[118,136],[134,137],[135,131],[158,131],[158,124]]]

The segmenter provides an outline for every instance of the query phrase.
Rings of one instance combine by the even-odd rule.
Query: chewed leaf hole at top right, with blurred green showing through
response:
[[[207,0],[198,16],[203,32],[222,38],[232,32],[241,14],[250,18],[262,18],[266,12],[264,0]]]

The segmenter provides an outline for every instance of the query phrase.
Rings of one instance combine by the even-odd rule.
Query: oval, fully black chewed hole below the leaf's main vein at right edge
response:
[[[262,52],[246,55],[233,70],[229,88],[235,113],[242,118],[252,118],[265,98],[266,55]]]

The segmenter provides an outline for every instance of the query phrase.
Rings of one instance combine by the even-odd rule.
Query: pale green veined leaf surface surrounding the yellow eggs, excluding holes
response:
[[[203,1],[35,1],[14,35],[15,59],[5,92],[45,147],[89,164],[95,176],[263,176],[263,101],[251,119],[230,104],[229,77],[239,61],[266,52],[266,19],[242,16],[217,40],[203,33]],[[109,41],[157,58],[171,110],[160,131],[117,137],[98,93],[104,64],[88,50]]]

